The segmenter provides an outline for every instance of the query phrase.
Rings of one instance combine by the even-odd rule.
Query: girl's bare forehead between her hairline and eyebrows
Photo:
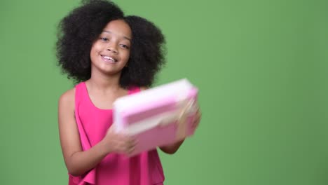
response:
[[[130,26],[124,20],[112,20],[104,27],[103,32],[131,39]]]

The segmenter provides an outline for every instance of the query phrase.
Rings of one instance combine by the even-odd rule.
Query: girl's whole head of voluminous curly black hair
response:
[[[111,20],[124,20],[132,31],[130,58],[121,73],[121,87],[151,86],[165,64],[165,37],[152,22],[139,16],[124,16],[116,4],[105,0],[83,1],[60,21],[56,48],[62,72],[74,83],[90,78],[91,47]]]

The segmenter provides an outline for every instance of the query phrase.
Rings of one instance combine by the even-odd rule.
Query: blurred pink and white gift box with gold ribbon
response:
[[[193,135],[197,95],[198,89],[182,79],[116,100],[116,131],[138,141],[131,156]]]

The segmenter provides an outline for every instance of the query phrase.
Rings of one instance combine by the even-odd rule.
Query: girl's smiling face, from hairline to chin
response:
[[[121,74],[129,60],[131,39],[131,29],[126,22],[109,22],[91,48],[91,69],[105,74]]]

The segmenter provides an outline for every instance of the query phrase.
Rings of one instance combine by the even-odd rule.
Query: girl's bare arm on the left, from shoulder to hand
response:
[[[58,124],[60,144],[67,170],[74,176],[79,176],[95,167],[111,152],[128,153],[132,144],[127,137],[117,135],[109,129],[101,142],[88,151],[83,151],[74,116],[74,89],[64,93],[58,102]],[[132,142],[130,142],[132,143]]]

